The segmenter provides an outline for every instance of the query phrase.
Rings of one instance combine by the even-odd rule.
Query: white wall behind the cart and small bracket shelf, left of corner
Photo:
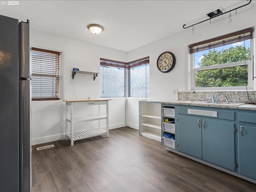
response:
[[[65,102],[99,98],[99,77],[76,74],[72,80],[72,68],[99,72],[100,58],[126,61],[126,52],[97,46],[63,36],[30,30],[30,46],[62,51],[61,54],[61,100],[31,102],[32,145],[65,138]],[[125,99],[109,102],[110,129],[125,126]],[[96,110],[96,109],[95,109]],[[89,110],[92,112],[94,110]],[[81,108],[79,112],[86,112]],[[89,128],[96,126],[89,124]],[[82,127],[78,127],[81,130]]]

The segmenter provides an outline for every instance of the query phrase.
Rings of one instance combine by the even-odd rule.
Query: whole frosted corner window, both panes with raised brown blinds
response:
[[[149,98],[149,57],[129,63],[100,58],[100,97],[125,96]]]

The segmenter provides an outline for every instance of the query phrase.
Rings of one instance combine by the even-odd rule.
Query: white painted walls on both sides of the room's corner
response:
[[[150,100],[178,100],[178,91],[191,90],[190,56],[188,45],[221,36],[256,25],[256,7],[254,4],[237,10],[232,14],[232,22],[226,16],[212,19],[211,24],[204,22],[182,32],[152,42],[146,46],[122,52],[94,44],[62,37],[45,32],[31,31],[30,44],[40,48],[62,51],[61,99],[87,99],[89,96],[99,98],[99,78],[93,81],[92,76],[77,74],[72,80],[73,67],[80,70],[99,72],[99,59],[107,58],[129,62],[150,56]],[[182,26],[180,26],[182,28]],[[255,44],[255,39],[254,39]],[[165,51],[174,53],[176,66],[169,73],[162,73],[156,66],[158,56]],[[255,55],[255,50],[254,50]],[[255,87],[255,85],[254,85]],[[144,99],[124,98],[110,101],[110,128],[128,126],[138,129],[138,101]],[[127,111],[125,112],[125,103]],[[32,144],[58,140],[65,137],[65,103],[63,101],[33,101],[32,107]],[[81,108],[79,112],[86,112]],[[127,121],[125,122],[125,116]],[[91,127],[95,126],[90,124]],[[80,128],[82,129],[82,128]]]

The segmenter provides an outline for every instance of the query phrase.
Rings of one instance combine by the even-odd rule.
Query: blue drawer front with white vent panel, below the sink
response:
[[[191,113],[191,111],[193,111]],[[235,112],[206,107],[178,107],[178,114],[204,116],[217,119],[235,120]]]

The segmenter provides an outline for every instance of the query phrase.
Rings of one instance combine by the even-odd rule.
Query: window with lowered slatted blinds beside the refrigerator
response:
[[[32,100],[60,99],[60,52],[32,48]]]

